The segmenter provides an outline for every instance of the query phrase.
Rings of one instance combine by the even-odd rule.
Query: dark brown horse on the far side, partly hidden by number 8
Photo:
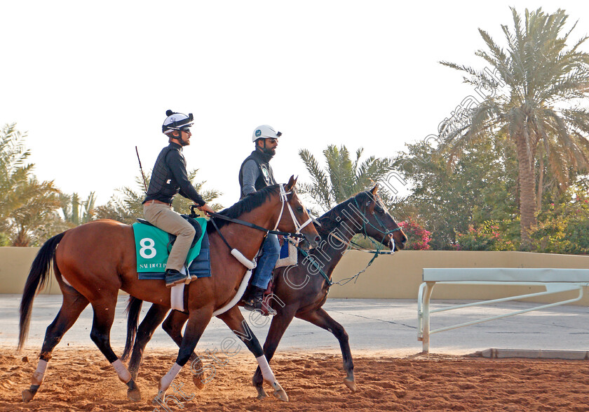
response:
[[[313,248],[309,253],[299,251],[297,256],[299,265],[280,267],[274,272],[276,286],[270,301],[271,307],[278,313],[271,321],[264,343],[264,354],[268,361],[272,359],[280,339],[294,317],[309,321],[330,331],[339,341],[346,371],[344,384],[354,391],[356,383],[348,334],[344,327],[334,321],[322,308],[332,284],[332,272],[355,234],[372,237],[391,251],[405,248],[407,236],[384,208],[378,195],[378,185],[370,191],[360,192],[355,197],[335,206],[321,216],[318,222],[320,225],[317,229],[323,239],[320,246]],[[321,270],[318,270],[318,267],[321,267]],[[130,352],[130,345],[133,344],[141,304],[140,300],[133,298],[128,303],[128,340],[123,354],[125,358]],[[145,345],[168,311],[169,308],[163,305],[151,305],[137,329],[133,354],[129,362],[133,378],[137,376]],[[163,329],[177,345],[182,343],[182,326],[186,321],[186,314],[172,310],[163,323]],[[198,356],[192,354],[191,359],[198,360]],[[193,376],[193,381],[196,387],[203,387],[202,378],[198,375]],[[263,382],[264,377],[258,367],[252,383],[257,389],[259,399],[267,396],[262,386]]]

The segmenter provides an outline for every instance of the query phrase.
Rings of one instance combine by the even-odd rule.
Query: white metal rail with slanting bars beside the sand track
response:
[[[515,314],[532,312],[533,310],[544,309],[558,305],[573,303],[583,298],[583,288],[589,286],[589,269],[529,269],[529,268],[424,268],[424,283],[419,286],[419,295],[417,297],[417,340],[421,340],[423,351],[429,352],[430,335],[443,331],[449,331],[462,326],[480,324],[493,319],[510,317]],[[545,291],[538,293],[528,293],[526,295],[510,296],[508,298],[483,300],[465,305],[456,305],[444,307],[441,309],[430,309],[431,293],[436,284],[445,285],[513,285],[513,286],[543,286]],[[560,300],[556,303],[539,305],[525,310],[518,310],[508,314],[478,319],[475,321],[446,326],[445,328],[430,329],[430,314],[444,312],[447,310],[459,309],[461,307],[489,305],[492,303],[506,302],[508,300],[520,300],[524,298],[534,298],[542,295],[552,295],[554,293],[578,291],[576,298]]]

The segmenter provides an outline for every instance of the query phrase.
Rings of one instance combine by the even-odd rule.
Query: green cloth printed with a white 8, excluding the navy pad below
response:
[[[190,248],[187,255],[187,267],[201,253],[203,237],[207,231],[207,220],[205,218],[195,219],[201,225],[201,237]],[[133,223],[133,234],[135,236],[135,252],[137,255],[137,273],[140,279],[141,274],[161,274],[165,272],[165,264],[168,262],[168,255],[172,248],[170,237],[167,232],[158,227],[144,223]],[[153,279],[153,278],[152,278]]]

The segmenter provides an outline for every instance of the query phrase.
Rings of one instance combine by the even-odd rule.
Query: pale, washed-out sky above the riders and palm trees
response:
[[[165,110],[192,112],[188,168],[231,206],[260,124],[283,132],[278,182],[310,182],[301,148],[390,157],[437,133],[473,95],[439,61],[483,69],[478,28],[505,46],[509,6],[589,34],[587,1],[0,0],[0,124],[28,133],[41,180],[104,204],[135,187],[135,146],[147,171],[168,144]]]

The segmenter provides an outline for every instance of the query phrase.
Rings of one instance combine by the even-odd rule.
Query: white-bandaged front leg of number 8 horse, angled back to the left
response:
[[[190,355],[194,352],[198,340],[201,339],[201,336],[212,317],[212,310],[212,305],[210,305],[208,307],[200,307],[190,311],[188,324],[186,326],[186,331],[184,331],[184,338],[182,338],[182,345],[180,345],[176,362],[159,382],[158,394],[153,401],[155,405],[166,405],[165,391],[168,390],[172,381],[182,369],[182,366],[189,361]]]

